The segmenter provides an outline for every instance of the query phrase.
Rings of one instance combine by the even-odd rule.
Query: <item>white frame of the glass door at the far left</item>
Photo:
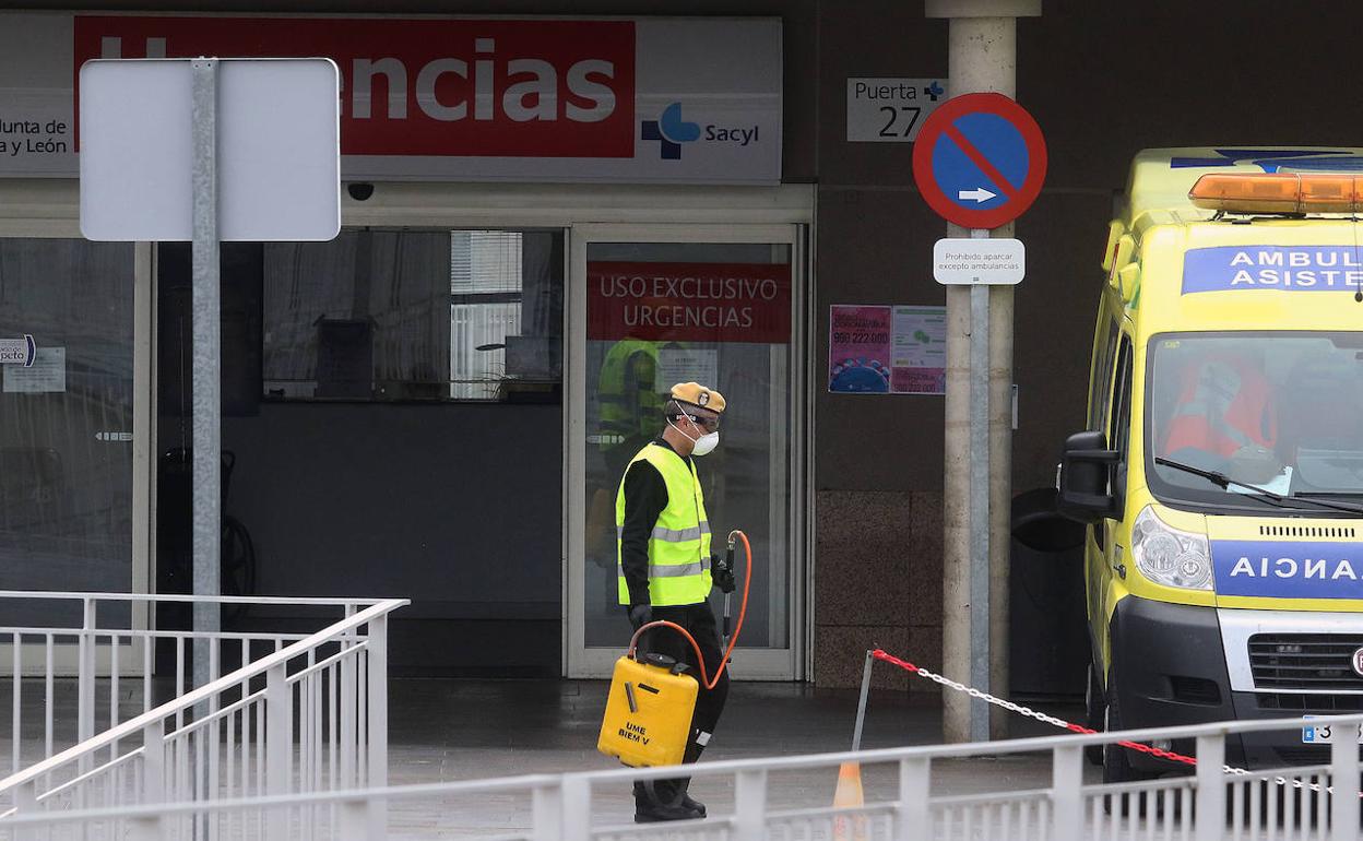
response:
[[[80,240],[79,192],[76,181],[0,181],[0,239]],[[132,243],[132,577],[131,593],[150,593],[155,570],[153,495],[155,493],[155,424],[154,418],[154,341],[153,312],[155,258],[151,243]],[[150,628],[147,602],[134,602],[131,630]],[[142,672],[142,646],[131,645],[120,653],[120,673]],[[0,643],[0,658],[8,660],[12,643]],[[38,669],[41,643],[25,643],[25,672]],[[109,652],[97,652],[99,675],[110,668]],[[31,667],[31,668],[30,668]],[[79,668],[75,645],[53,646],[57,675],[75,673]]]

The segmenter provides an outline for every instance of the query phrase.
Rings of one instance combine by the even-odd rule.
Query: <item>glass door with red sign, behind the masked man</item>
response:
[[[616,492],[626,466],[664,428],[662,395],[688,380],[728,401],[720,447],[696,459],[714,551],[724,551],[731,529],[752,541],[744,650],[733,676],[799,676],[803,264],[797,226],[574,228],[571,676],[609,675],[630,639],[616,594]],[[741,551],[737,560],[741,593]],[[722,596],[710,601],[718,616]]]

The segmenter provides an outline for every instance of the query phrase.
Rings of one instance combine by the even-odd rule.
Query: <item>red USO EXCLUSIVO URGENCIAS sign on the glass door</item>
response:
[[[791,341],[791,266],[587,262],[587,338]]]

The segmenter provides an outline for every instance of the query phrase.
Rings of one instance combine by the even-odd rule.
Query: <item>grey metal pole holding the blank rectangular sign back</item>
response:
[[[218,278],[218,60],[196,59],[194,71],[194,594],[218,596],[222,545],[222,383]],[[209,683],[209,641],[221,615],[217,602],[194,604],[194,684]]]

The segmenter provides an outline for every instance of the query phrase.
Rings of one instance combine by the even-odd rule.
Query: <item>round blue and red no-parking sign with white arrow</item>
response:
[[[1045,162],[1041,128],[1003,94],[947,100],[913,146],[919,191],[962,228],[999,228],[1022,215],[1041,194]]]

